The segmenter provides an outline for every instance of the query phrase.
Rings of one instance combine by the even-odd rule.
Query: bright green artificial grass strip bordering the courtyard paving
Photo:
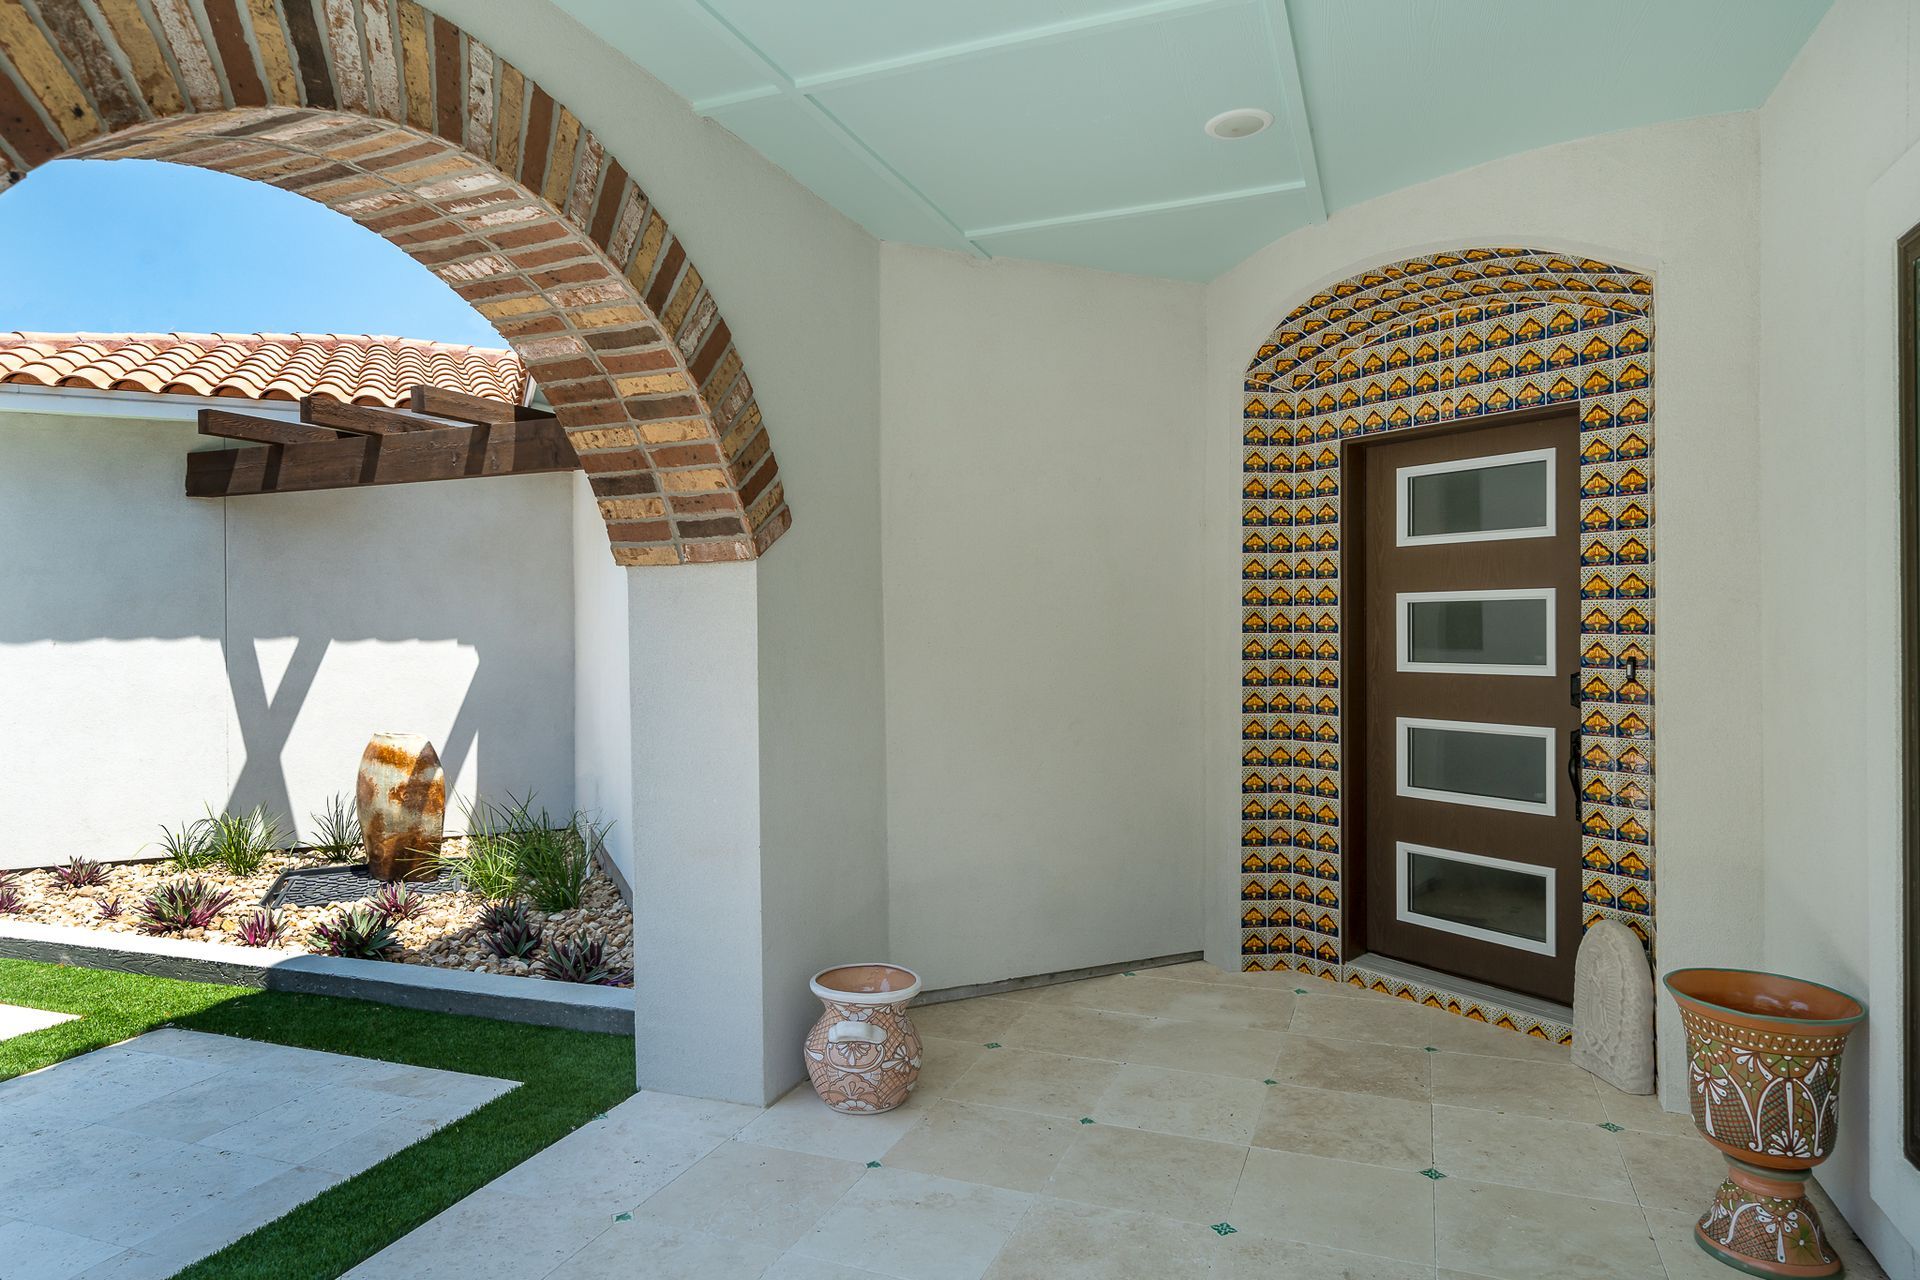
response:
[[[0,1080],[171,1025],[520,1082],[180,1280],[332,1280],[634,1094],[628,1036],[23,960],[0,960],[0,1002],[81,1015],[0,1042]]]

